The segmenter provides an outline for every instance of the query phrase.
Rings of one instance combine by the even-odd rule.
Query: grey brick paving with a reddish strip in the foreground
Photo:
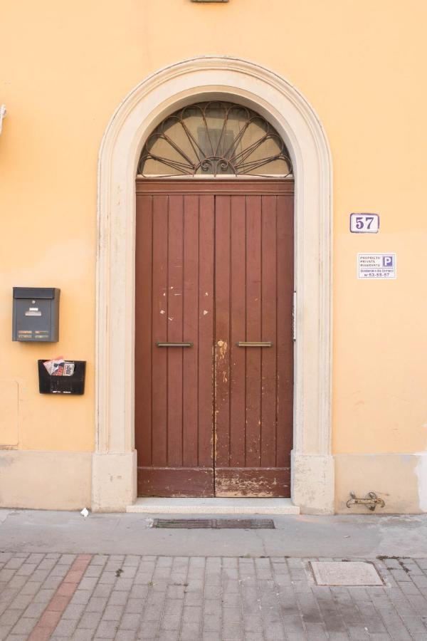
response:
[[[3,552],[0,639],[427,640],[426,558],[363,588],[315,585],[317,560]]]

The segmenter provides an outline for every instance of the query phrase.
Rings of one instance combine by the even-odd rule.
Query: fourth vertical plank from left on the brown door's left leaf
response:
[[[176,296],[176,292],[175,292]],[[182,382],[182,464],[196,467],[198,462],[198,390],[199,351],[199,197],[184,196],[184,288],[183,340],[194,343],[183,348]]]

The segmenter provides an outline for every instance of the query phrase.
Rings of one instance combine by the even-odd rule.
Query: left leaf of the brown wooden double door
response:
[[[204,199],[206,208],[199,222],[198,196],[137,197],[135,442],[139,496],[214,494],[214,318],[209,313],[214,291],[214,211],[213,197]],[[210,294],[203,301],[201,288]],[[208,313],[201,311],[202,302]],[[194,345],[157,347],[157,342],[183,341]]]

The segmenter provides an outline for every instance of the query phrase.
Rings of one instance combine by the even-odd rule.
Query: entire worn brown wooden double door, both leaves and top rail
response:
[[[292,291],[292,182],[137,181],[139,496],[290,496]]]

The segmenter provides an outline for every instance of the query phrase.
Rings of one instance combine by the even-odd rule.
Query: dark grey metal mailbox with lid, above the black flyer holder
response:
[[[58,343],[59,294],[55,287],[14,287],[12,340]]]

